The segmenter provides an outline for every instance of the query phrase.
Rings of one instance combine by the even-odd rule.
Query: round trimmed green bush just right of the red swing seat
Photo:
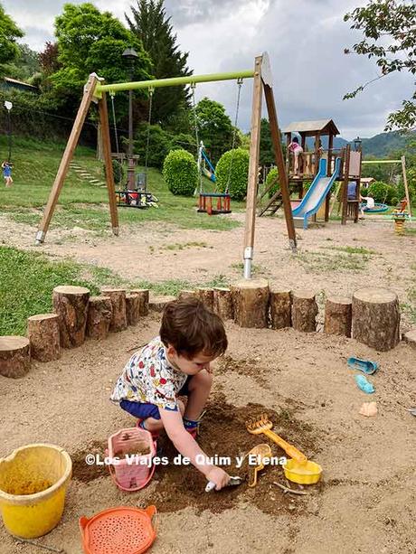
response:
[[[221,156],[215,168],[217,189],[220,192],[225,192],[228,184],[232,199],[245,198],[249,178],[249,159],[249,153],[242,148],[229,150]]]

